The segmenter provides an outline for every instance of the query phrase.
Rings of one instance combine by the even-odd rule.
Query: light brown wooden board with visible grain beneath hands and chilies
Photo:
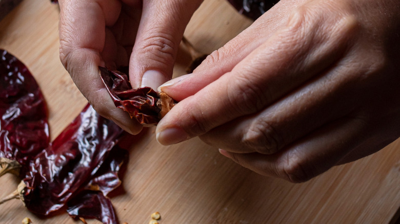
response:
[[[43,89],[52,139],[86,104],[59,62],[57,20],[56,5],[25,0],[0,22],[0,48],[21,59]],[[249,24],[225,1],[209,0],[185,35],[210,53]],[[184,66],[178,64],[175,75]],[[388,223],[400,206],[398,140],[303,184],[255,174],[198,139],[161,146],[150,128],[132,141],[123,188],[111,195],[121,223],[148,223],[155,211],[162,224]],[[1,177],[0,197],[18,182],[11,174]],[[18,200],[0,206],[0,223],[21,223],[24,217],[35,224],[80,223],[66,213],[38,217]]]

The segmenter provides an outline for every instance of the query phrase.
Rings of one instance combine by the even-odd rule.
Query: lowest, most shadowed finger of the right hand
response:
[[[220,152],[234,162],[259,174],[305,182],[338,164],[347,153],[363,142],[366,123],[346,118],[326,125],[272,155]]]

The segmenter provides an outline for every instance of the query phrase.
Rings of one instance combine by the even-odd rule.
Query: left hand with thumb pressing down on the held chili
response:
[[[116,108],[98,66],[129,65],[133,88],[171,79],[179,42],[203,0],[60,0],[60,58],[100,115],[130,133],[142,125]]]

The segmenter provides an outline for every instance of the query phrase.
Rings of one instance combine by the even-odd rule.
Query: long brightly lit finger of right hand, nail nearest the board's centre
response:
[[[312,21],[306,15],[313,13],[297,11],[286,28],[232,72],[179,102],[158,124],[159,142],[173,144],[257,113],[329,68],[347,49],[345,37],[354,31],[354,21],[340,16],[326,29],[318,15]]]

